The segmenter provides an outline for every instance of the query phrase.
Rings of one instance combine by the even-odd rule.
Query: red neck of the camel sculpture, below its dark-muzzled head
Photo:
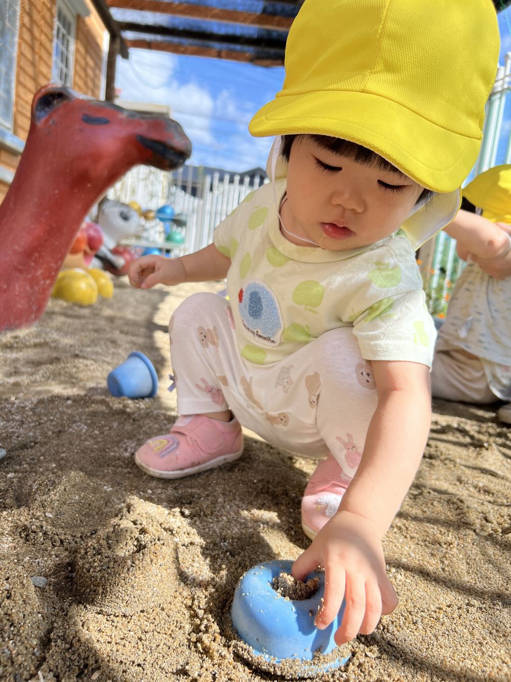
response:
[[[87,211],[135,163],[101,173],[93,159],[62,160],[40,141],[29,136],[0,205],[0,331],[40,317]]]

